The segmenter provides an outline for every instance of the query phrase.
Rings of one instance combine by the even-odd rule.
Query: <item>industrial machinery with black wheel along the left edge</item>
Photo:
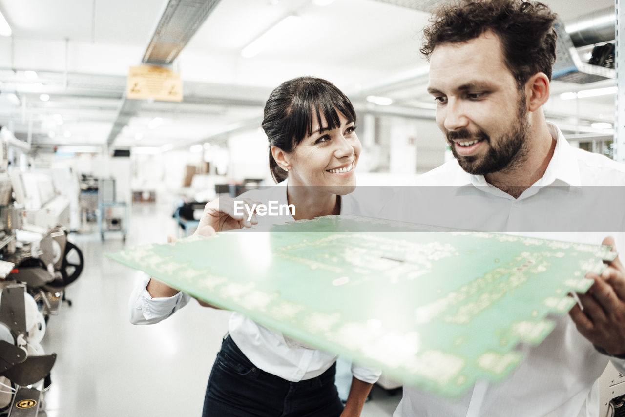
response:
[[[0,128],[0,413],[12,417],[44,409],[56,354],[45,354],[40,342],[84,263],[67,239],[69,201],[51,176],[8,171],[15,149],[27,148]]]

